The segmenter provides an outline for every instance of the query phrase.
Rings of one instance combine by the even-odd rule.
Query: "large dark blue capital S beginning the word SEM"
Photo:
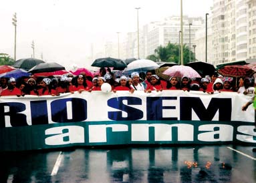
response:
[[[143,118],[143,112],[141,110],[124,105],[124,100],[127,100],[128,105],[142,105],[142,100],[140,98],[120,97],[118,100],[116,100],[116,98],[111,98],[108,100],[108,106],[121,110],[121,112],[108,112],[108,118],[110,120],[140,120]],[[122,111],[127,112],[128,116],[126,118],[122,117]]]

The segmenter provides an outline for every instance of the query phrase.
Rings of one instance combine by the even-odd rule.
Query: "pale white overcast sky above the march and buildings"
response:
[[[183,0],[183,15],[205,17],[213,0]],[[117,42],[139,24],[180,15],[180,0],[0,0],[0,53],[14,57],[13,14],[17,13],[16,58],[35,57],[68,67],[86,66],[90,45],[100,49],[105,41]]]

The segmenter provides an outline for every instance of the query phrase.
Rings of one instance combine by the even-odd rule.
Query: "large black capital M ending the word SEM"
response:
[[[219,110],[219,121],[231,121],[231,98],[211,98],[207,109],[201,98],[180,97],[180,120],[192,120],[192,110],[201,121],[212,121]]]

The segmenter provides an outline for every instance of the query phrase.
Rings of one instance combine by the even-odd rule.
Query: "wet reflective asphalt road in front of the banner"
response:
[[[249,146],[1,153],[0,182],[256,182]]]

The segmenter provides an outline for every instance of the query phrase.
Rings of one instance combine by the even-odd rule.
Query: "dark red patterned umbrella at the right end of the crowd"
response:
[[[218,69],[221,75],[229,77],[246,77],[253,75],[255,71],[250,69],[247,65],[226,65],[221,69]]]

